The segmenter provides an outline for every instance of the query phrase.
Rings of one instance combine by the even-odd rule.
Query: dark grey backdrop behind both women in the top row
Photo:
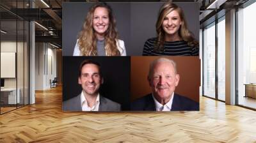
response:
[[[93,3],[63,3],[63,56],[72,56],[86,13]],[[125,41],[127,56],[141,56],[148,38],[156,36],[156,20],[163,2],[108,3],[114,11],[116,27]],[[175,3],[184,10],[189,30],[199,40],[199,4]]]

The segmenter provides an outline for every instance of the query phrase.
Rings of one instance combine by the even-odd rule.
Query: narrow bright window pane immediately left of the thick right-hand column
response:
[[[225,101],[225,16],[219,19],[218,26],[218,100]]]

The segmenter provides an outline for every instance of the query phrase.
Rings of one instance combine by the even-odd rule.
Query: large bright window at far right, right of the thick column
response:
[[[256,109],[256,3],[237,11],[238,104]]]

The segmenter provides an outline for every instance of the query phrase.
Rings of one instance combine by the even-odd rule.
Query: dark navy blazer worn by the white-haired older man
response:
[[[131,110],[156,110],[152,93],[132,102]],[[199,110],[199,103],[174,93],[171,110]]]

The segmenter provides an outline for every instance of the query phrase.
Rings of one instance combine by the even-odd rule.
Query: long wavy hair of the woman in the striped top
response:
[[[182,22],[180,28],[179,28],[179,36],[182,38],[182,40],[187,41],[189,47],[198,47],[198,41],[195,40],[193,33],[189,31],[187,22],[184,16],[183,10],[177,6],[176,4],[172,3],[171,1],[164,3],[158,13],[158,18],[156,22],[156,32],[157,32],[157,41],[154,45],[154,50],[161,51],[164,50],[164,29],[162,27],[163,20],[168,13],[171,11],[177,11],[180,16],[180,20]]]

